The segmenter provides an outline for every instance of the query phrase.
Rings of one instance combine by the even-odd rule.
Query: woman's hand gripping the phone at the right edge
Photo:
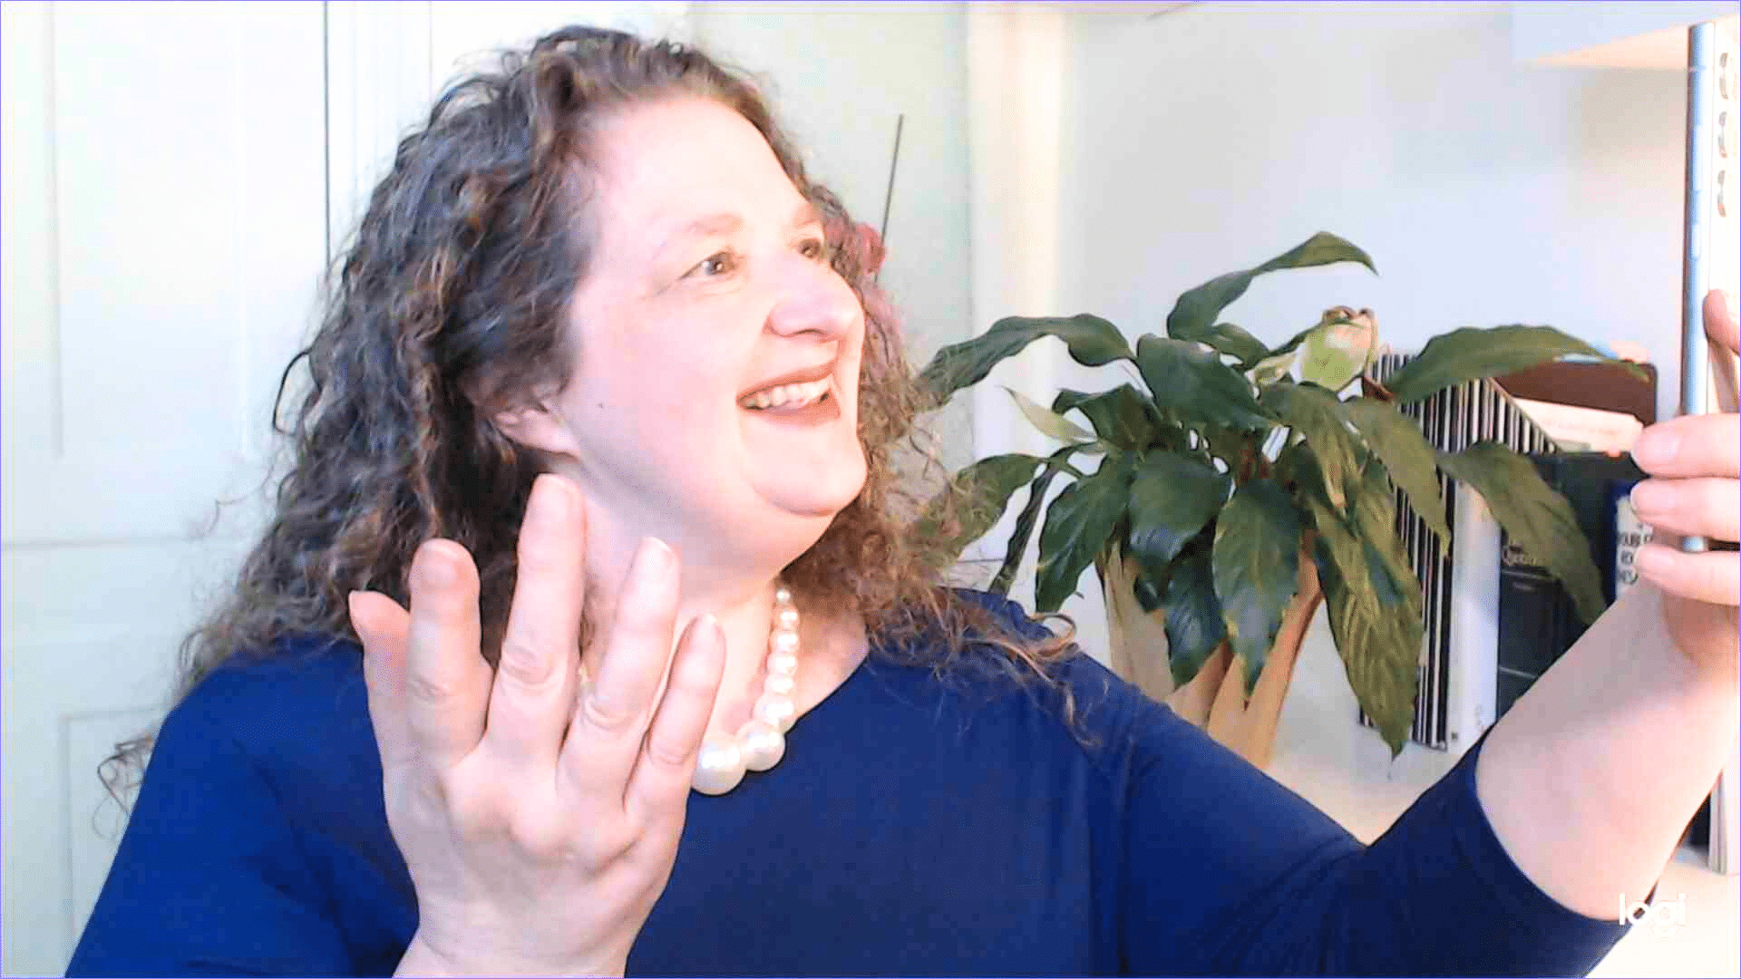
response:
[[[1675,646],[1734,683],[1741,552],[1680,550],[1682,535],[1713,544],[1741,538],[1741,416],[1731,359],[1741,341],[1734,301],[1718,291],[1704,296],[1704,334],[1717,354],[1711,371],[1722,413],[1673,418],[1638,435],[1633,460],[1650,479],[1633,488],[1631,502],[1656,537],[1638,550],[1637,568],[1663,592],[1663,625]]]

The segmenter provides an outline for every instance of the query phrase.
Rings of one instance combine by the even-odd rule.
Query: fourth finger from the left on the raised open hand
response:
[[[676,620],[677,554],[649,537],[629,568],[597,676],[583,685],[562,746],[562,779],[587,805],[623,805]]]

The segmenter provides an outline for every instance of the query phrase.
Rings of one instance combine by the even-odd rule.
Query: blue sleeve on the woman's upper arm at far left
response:
[[[275,787],[214,721],[214,686],[165,718],[68,976],[352,974]]]

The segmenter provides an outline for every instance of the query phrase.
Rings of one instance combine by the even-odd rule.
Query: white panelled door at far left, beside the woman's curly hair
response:
[[[59,974],[120,826],[97,763],[258,528],[326,254],[322,10],[9,2],[0,38],[0,930]]]

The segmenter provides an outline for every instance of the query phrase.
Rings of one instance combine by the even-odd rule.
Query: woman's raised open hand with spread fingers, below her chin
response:
[[[352,596],[387,819],[418,895],[399,974],[620,976],[670,876],[724,636],[702,617],[672,653],[677,556],[646,540],[583,685],[585,533],[580,490],[540,476],[494,671],[458,544],[418,550],[409,611]]]

